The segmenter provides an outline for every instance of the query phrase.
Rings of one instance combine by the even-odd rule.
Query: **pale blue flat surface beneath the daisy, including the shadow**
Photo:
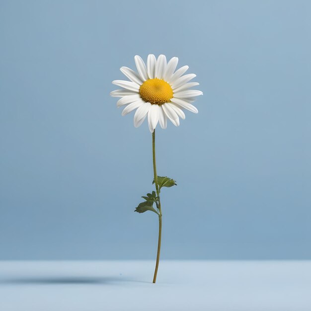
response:
[[[311,261],[0,261],[0,311],[311,311]]]

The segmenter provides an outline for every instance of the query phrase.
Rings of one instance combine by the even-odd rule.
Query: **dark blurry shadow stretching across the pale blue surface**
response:
[[[117,284],[124,282],[151,283],[121,277],[25,277],[0,280],[0,284]]]

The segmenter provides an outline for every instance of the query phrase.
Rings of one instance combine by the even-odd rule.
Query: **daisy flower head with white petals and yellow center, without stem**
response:
[[[154,132],[157,123],[162,129],[166,128],[167,119],[175,126],[179,126],[179,117],[185,119],[183,110],[198,113],[198,109],[191,103],[196,96],[203,95],[199,90],[189,89],[199,85],[190,82],[196,75],[184,73],[188,66],[183,66],[175,71],[178,58],[173,57],[166,63],[166,57],[160,55],[157,60],[150,54],[147,58],[147,67],[138,55],[135,56],[135,64],[138,73],[127,67],[121,67],[121,72],[130,79],[114,80],[113,84],[123,87],[110,93],[113,97],[121,97],[117,101],[117,107],[125,106],[122,115],[136,109],[134,126],[142,125],[148,116],[148,125]]]

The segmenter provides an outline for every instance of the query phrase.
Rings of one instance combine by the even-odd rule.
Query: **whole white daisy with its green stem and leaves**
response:
[[[178,58],[173,57],[166,62],[166,57],[160,55],[157,59],[150,54],[147,58],[147,66],[142,58],[135,56],[135,64],[138,73],[127,67],[121,67],[121,72],[130,79],[114,80],[113,84],[121,86],[110,93],[113,97],[121,97],[117,101],[117,107],[124,106],[122,115],[135,111],[134,126],[142,125],[148,116],[148,126],[152,133],[152,155],[154,166],[154,180],[156,191],[142,196],[145,200],[138,204],[135,212],[156,213],[159,222],[158,242],[156,252],[156,268],[153,283],[156,283],[157,270],[160,259],[161,232],[162,232],[162,206],[160,200],[161,188],[170,188],[176,185],[176,181],[167,176],[158,176],[156,173],[156,125],[159,123],[162,129],[167,126],[167,119],[175,126],[179,126],[179,118],[185,119],[184,110],[198,113],[198,109],[191,103],[196,96],[203,95],[199,90],[190,89],[199,85],[197,82],[189,82],[196,75],[184,75],[188,66],[176,70]],[[175,71],[176,70],[176,71]],[[155,206],[156,205],[156,206]]]

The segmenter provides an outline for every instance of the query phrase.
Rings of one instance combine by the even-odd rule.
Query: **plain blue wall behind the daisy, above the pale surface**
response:
[[[156,256],[151,134],[121,116],[134,56],[204,96],[158,129],[162,258],[311,258],[310,1],[1,1],[0,259]]]

